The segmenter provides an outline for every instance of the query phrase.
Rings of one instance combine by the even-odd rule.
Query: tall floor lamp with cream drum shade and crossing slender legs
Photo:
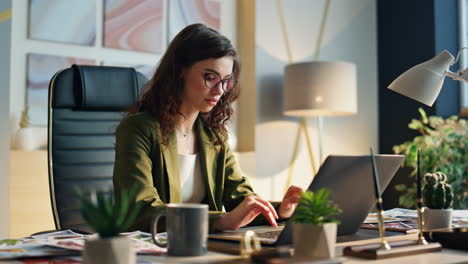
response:
[[[285,68],[283,113],[301,117],[293,155],[289,163],[286,190],[291,185],[301,132],[305,134],[313,176],[317,174],[315,158],[307,128],[307,117],[318,117],[319,164],[323,161],[322,130],[324,116],[352,115],[357,112],[356,65],[342,61],[318,61],[327,22],[330,1],[326,0],[314,52],[314,61],[293,63],[286,21],[281,0],[277,0],[278,16],[284,36],[289,64]]]

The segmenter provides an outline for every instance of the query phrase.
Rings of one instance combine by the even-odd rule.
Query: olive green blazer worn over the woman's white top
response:
[[[195,127],[207,190],[203,203],[209,205],[210,231],[213,231],[213,222],[223,213],[223,206],[231,211],[255,193],[242,176],[229,145],[226,142],[215,145],[216,136],[201,117]],[[167,203],[182,202],[175,132],[169,135],[167,147],[160,140],[159,122],[147,113],[131,114],[117,127],[113,177],[116,198],[135,182],[142,185],[135,202],[142,203],[143,209],[130,230],[148,232],[154,215],[164,210]],[[279,203],[273,205],[278,207]],[[263,223],[266,219],[260,216],[252,224]],[[159,228],[164,229],[164,222]]]

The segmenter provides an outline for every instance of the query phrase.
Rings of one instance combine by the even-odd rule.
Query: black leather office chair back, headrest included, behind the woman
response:
[[[147,78],[133,68],[78,66],[49,83],[48,165],[57,229],[92,231],[77,192],[112,190],[115,129]]]

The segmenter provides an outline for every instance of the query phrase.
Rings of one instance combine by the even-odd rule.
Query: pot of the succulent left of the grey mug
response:
[[[86,240],[83,250],[84,264],[133,264],[136,254],[128,237]]]

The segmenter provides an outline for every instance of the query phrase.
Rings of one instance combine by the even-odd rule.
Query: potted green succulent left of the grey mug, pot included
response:
[[[128,231],[140,211],[139,205],[131,205],[136,193],[134,186],[123,191],[115,201],[112,192],[98,192],[94,200],[80,195],[81,214],[99,235],[97,239],[85,241],[83,263],[136,263],[131,239],[119,236]]]

